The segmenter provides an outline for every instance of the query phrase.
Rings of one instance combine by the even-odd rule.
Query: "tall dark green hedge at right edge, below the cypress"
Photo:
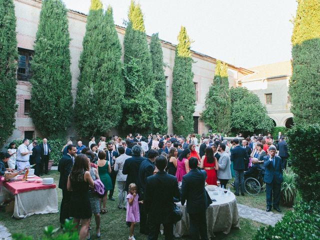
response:
[[[295,124],[287,133],[291,168],[304,201],[320,201],[320,125]],[[302,143],[302,144],[301,144]]]

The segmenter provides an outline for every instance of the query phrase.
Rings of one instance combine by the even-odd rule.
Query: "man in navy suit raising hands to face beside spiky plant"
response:
[[[281,157],[275,155],[276,148],[274,146],[269,147],[268,156],[263,157],[264,160],[264,182],[266,190],[266,211],[270,211],[273,208],[281,212],[279,208],[280,191],[282,178],[282,160]],[[272,201],[273,197],[273,201]]]

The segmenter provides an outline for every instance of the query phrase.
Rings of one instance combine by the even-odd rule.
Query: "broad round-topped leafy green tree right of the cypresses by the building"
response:
[[[259,97],[245,87],[231,87],[231,127],[239,131],[265,132],[273,127]]]

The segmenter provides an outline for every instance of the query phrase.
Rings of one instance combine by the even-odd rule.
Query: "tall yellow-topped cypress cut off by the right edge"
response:
[[[297,0],[289,84],[294,123],[320,121],[320,1]]]

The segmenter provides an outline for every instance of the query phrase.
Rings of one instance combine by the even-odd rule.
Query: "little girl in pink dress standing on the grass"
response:
[[[128,240],[135,240],[133,236],[134,224],[140,221],[139,203],[143,201],[138,201],[139,195],[136,193],[136,185],[134,183],[129,184],[128,194],[126,199],[126,216],[125,221],[129,224],[129,238]]]

